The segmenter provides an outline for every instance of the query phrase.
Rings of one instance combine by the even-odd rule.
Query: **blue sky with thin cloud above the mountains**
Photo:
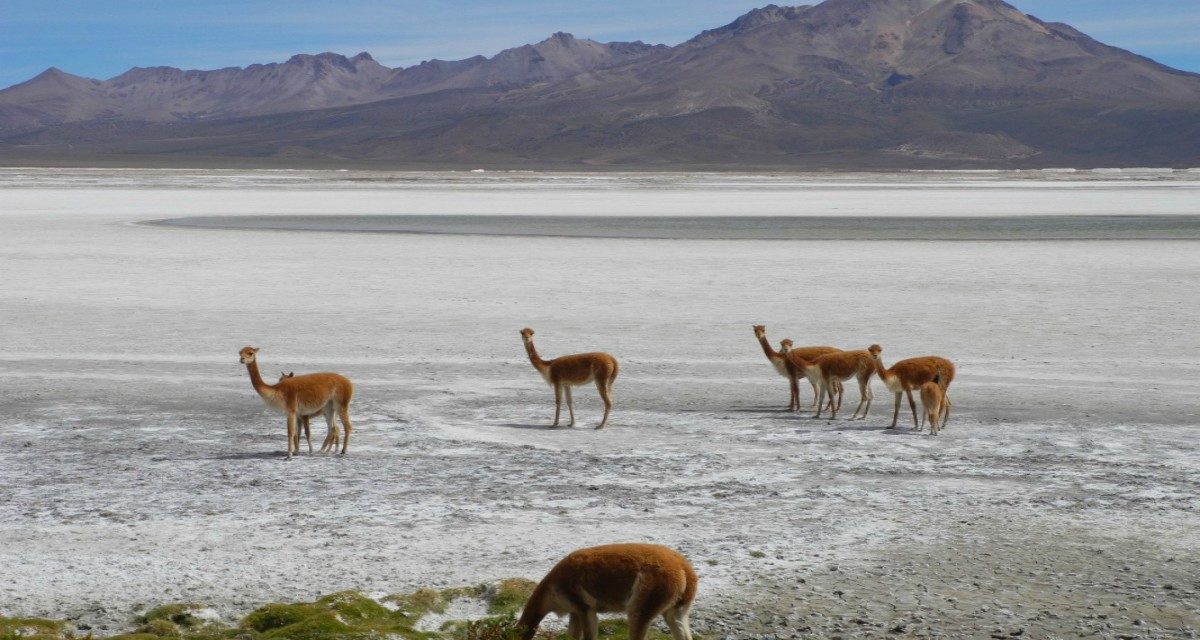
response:
[[[1200,72],[1200,0],[1009,0],[1050,22]],[[811,0],[810,0],[811,2]],[[388,66],[458,59],[554,31],[674,44],[768,0],[0,0],[0,88],[56,66],[217,68],[371,52]],[[800,2],[794,2],[800,4]]]

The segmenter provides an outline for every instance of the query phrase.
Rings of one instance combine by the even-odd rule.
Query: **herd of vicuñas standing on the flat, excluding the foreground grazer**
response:
[[[851,420],[864,419],[871,409],[871,376],[878,376],[883,384],[895,395],[895,407],[892,414],[892,426],[895,429],[900,418],[901,396],[908,397],[908,407],[912,409],[912,426],[922,430],[924,423],[929,420],[929,431],[937,435],[950,418],[950,399],[947,389],[954,382],[954,363],[940,355],[923,355],[920,358],[908,358],[892,365],[890,369],[883,366],[880,354],[883,348],[871,345],[865,349],[841,351],[836,347],[814,346],[796,347],[791,340],[782,340],[779,351],[772,348],[767,341],[767,328],[762,324],[754,325],[754,335],[762,346],[762,352],[767,355],[772,366],[780,376],[787,378],[791,397],[787,402],[790,411],[800,411],[800,387],[803,377],[812,387],[812,407],[816,409],[814,418],[821,418],[826,409],[829,418],[838,418],[841,409],[844,395],[842,382],[851,378],[858,381],[858,406],[850,415]],[[563,396],[566,397],[566,411],[571,421],[568,426],[575,426],[575,401],[571,397],[572,387],[595,383],[604,401],[604,418],[596,429],[604,429],[608,424],[608,414],[612,412],[612,383],[617,379],[620,366],[612,354],[602,352],[576,353],[572,355],[559,355],[552,360],[544,360],[538,355],[538,348],[533,345],[533,329],[526,327],[521,329],[521,341],[524,343],[526,354],[533,367],[541,373],[546,384],[554,389],[554,421],[551,427],[557,427],[563,413]],[[332,372],[308,373],[296,376],[295,373],[283,373],[278,382],[268,384],[263,381],[258,371],[258,349],[244,347],[239,353],[241,364],[250,371],[250,383],[263,397],[266,406],[287,415],[288,425],[288,459],[293,453],[300,450],[300,433],[305,435],[308,442],[308,453],[312,453],[312,433],[308,429],[310,418],[324,415],[329,431],[320,450],[336,450],[341,443],[342,451],[346,453],[350,445],[350,399],[354,396],[354,384],[344,376]],[[920,420],[917,418],[917,402],[912,397],[913,390],[920,394],[924,406],[924,414]],[[338,432],[334,420],[335,413],[342,423],[342,432]]]

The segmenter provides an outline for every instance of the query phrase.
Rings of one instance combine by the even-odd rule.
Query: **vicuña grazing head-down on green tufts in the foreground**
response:
[[[656,544],[606,544],[572,551],[541,579],[521,612],[529,640],[548,614],[569,614],[569,634],[596,640],[598,614],[624,611],[629,640],[644,640],[662,616],[674,640],[691,640],[688,610],[696,598],[696,572],[678,551]]]

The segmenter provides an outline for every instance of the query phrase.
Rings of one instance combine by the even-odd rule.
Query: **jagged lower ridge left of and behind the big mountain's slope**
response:
[[[136,67],[108,80],[56,68],[0,91],[0,130],[91,120],[173,122],[324,109],[444,89],[514,88],[634,60],[656,48],[554,34],[493,58],[388,68],[367,53],[294,55],[286,62],[184,71]]]

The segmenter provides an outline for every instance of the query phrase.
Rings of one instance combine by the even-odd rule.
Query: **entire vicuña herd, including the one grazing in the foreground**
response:
[[[775,371],[787,378],[790,411],[800,411],[799,379],[803,377],[812,387],[814,418],[820,418],[826,409],[830,418],[836,418],[841,408],[842,382],[853,378],[858,381],[859,399],[851,419],[866,418],[871,408],[871,376],[877,375],[895,395],[889,429],[895,427],[900,417],[901,395],[908,397],[913,429],[920,430],[928,420],[930,433],[937,435],[949,419],[947,389],[954,381],[954,363],[946,358],[908,358],[889,369],[883,366],[880,357],[883,349],[878,345],[841,351],[828,346],[796,347],[791,340],[784,340],[775,351],[767,341],[766,327],[756,324],[754,333]],[[564,395],[571,419],[569,426],[575,426],[571,388],[595,383],[604,401],[604,418],[596,429],[604,429],[612,412],[612,383],[619,371],[617,359],[607,353],[593,352],[544,360],[533,345],[533,329],[521,329],[521,341],[534,369],[554,389],[554,423],[551,426],[558,426]],[[289,372],[281,375],[275,384],[268,384],[258,371],[258,349],[245,347],[239,355],[258,395],[269,407],[287,415],[289,459],[300,450],[301,431],[308,442],[308,453],[312,453],[308,420],[316,415],[324,415],[329,426],[320,450],[336,450],[338,442],[342,454],[349,449],[353,430],[350,400],[354,396],[354,384],[349,379],[331,372],[306,376]],[[919,423],[913,390],[920,394],[925,409]],[[338,432],[334,420],[335,413],[342,423],[342,432]],[[558,614],[569,616],[571,638],[596,640],[599,614],[624,612],[629,618],[630,640],[644,640],[650,623],[659,616],[666,622],[673,640],[691,640],[688,611],[696,598],[696,572],[688,560],[666,546],[610,544],[580,549],[556,564],[534,588],[521,612],[520,633],[529,640],[536,634],[542,618]]]

